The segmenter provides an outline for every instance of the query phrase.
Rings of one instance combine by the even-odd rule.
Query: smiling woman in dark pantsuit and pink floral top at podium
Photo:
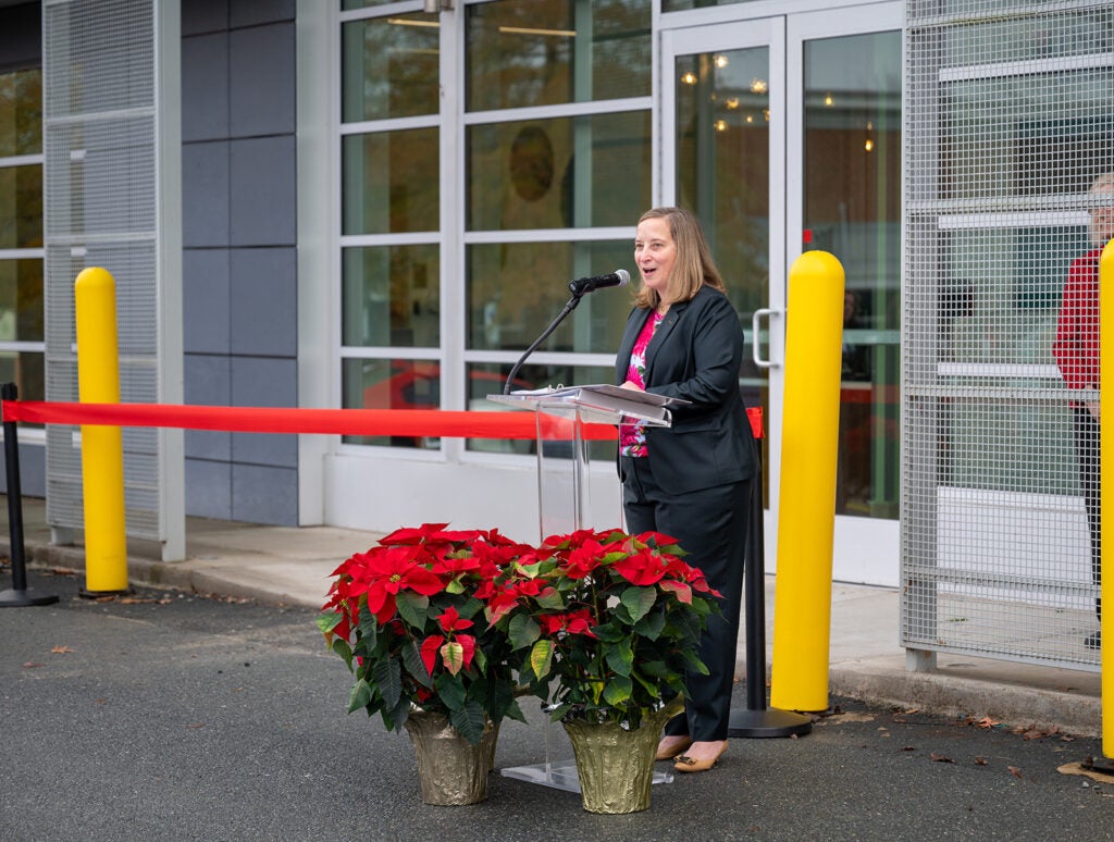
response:
[[[739,393],[743,332],[692,213],[643,214],[634,257],[642,286],[615,382],[687,403],[671,407],[672,427],[619,428],[623,509],[629,532],[676,538],[685,560],[723,595],[723,615],[710,618],[701,640],[710,675],[685,676],[685,711],[666,723],[657,748],[657,758],[674,760],[678,772],[703,772],[727,748],[754,473]]]

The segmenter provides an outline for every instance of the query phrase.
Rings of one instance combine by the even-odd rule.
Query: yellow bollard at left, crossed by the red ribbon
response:
[[[116,282],[89,267],[74,283],[77,379],[82,403],[119,403]],[[88,595],[128,589],[124,516],[124,435],[118,427],[81,425],[85,585]]]

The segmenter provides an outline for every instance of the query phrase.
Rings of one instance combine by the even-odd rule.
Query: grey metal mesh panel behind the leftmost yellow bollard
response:
[[[74,281],[116,281],[120,399],[157,402],[155,0],[43,2],[47,400],[78,399]],[[84,526],[77,428],[47,429],[47,517]],[[124,431],[128,535],[158,539],[159,435]]]

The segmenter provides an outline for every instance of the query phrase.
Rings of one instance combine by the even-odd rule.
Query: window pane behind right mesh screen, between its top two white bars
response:
[[[942,197],[1086,193],[1110,160],[1112,90],[1111,67],[948,86]],[[1049,102],[1056,104],[1052,116]]]

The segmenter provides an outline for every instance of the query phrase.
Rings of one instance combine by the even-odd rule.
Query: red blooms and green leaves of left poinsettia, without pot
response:
[[[447,526],[399,529],[348,558],[317,626],[354,676],[349,713],[378,713],[394,731],[416,709],[443,714],[475,745],[488,719],[525,722],[521,658],[496,621],[515,614],[507,594],[536,550]]]

